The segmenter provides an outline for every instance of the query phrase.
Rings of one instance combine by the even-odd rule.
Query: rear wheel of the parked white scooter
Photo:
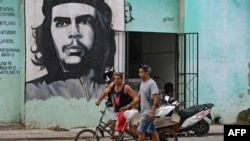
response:
[[[209,128],[208,122],[202,119],[194,125],[193,131],[196,136],[203,137],[208,134]]]

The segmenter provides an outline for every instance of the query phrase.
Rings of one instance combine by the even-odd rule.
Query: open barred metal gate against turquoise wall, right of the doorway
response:
[[[198,49],[198,33],[178,34],[175,92],[184,108],[198,104]]]

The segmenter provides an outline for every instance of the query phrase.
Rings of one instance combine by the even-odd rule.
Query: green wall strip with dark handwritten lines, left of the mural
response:
[[[0,0],[0,122],[20,122],[24,56],[20,1]]]

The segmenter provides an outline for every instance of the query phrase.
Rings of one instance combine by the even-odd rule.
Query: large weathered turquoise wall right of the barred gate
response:
[[[185,0],[185,32],[199,33],[199,103],[235,123],[250,107],[250,1]]]

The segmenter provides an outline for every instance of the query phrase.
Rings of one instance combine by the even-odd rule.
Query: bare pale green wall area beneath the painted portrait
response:
[[[51,128],[54,125],[62,128],[95,126],[101,116],[95,102],[96,100],[85,99],[66,100],[62,97],[46,101],[28,101],[25,104],[25,126],[27,128]],[[104,105],[100,107],[103,108]],[[105,120],[109,118],[108,111],[106,115]]]

